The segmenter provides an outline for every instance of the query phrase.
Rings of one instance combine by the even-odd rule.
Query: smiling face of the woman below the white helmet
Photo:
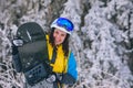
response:
[[[64,38],[66,37],[66,33],[59,29],[55,29],[53,32],[53,37],[54,37],[54,44],[60,45],[63,43]]]

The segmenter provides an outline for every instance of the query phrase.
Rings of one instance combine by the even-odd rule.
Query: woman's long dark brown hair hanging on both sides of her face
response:
[[[50,32],[50,34],[49,34],[49,36],[50,36],[49,42],[50,42],[50,44],[51,44],[53,47],[55,46],[55,45],[54,45],[54,37],[53,37],[53,32],[54,32],[54,30],[55,30],[55,29],[51,29],[51,32]],[[66,37],[64,38],[64,42],[62,43],[62,50],[63,50],[63,52],[64,52],[64,56],[69,56],[69,37],[70,37],[70,35],[66,34]]]

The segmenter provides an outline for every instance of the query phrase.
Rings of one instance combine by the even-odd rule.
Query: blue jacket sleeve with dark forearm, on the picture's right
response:
[[[62,76],[62,82],[66,85],[73,85],[75,84],[76,79],[78,79],[76,62],[73,53],[71,53],[68,61],[68,70]]]

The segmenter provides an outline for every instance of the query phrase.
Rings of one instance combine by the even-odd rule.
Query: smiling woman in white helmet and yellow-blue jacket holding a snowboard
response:
[[[73,23],[70,20],[58,18],[51,24],[50,34],[45,35],[49,66],[52,70],[45,78],[45,82],[51,84],[53,88],[62,88],[63,84],[72,86],[78,79],[75,58],[69,50],[69,37],[72,31]],[[19,53],[16,46],[19,44],[22,46],[23,42],[14,40],[12,43],[13,65],[17,72],[21,72],[21,63],[18,61]]]

